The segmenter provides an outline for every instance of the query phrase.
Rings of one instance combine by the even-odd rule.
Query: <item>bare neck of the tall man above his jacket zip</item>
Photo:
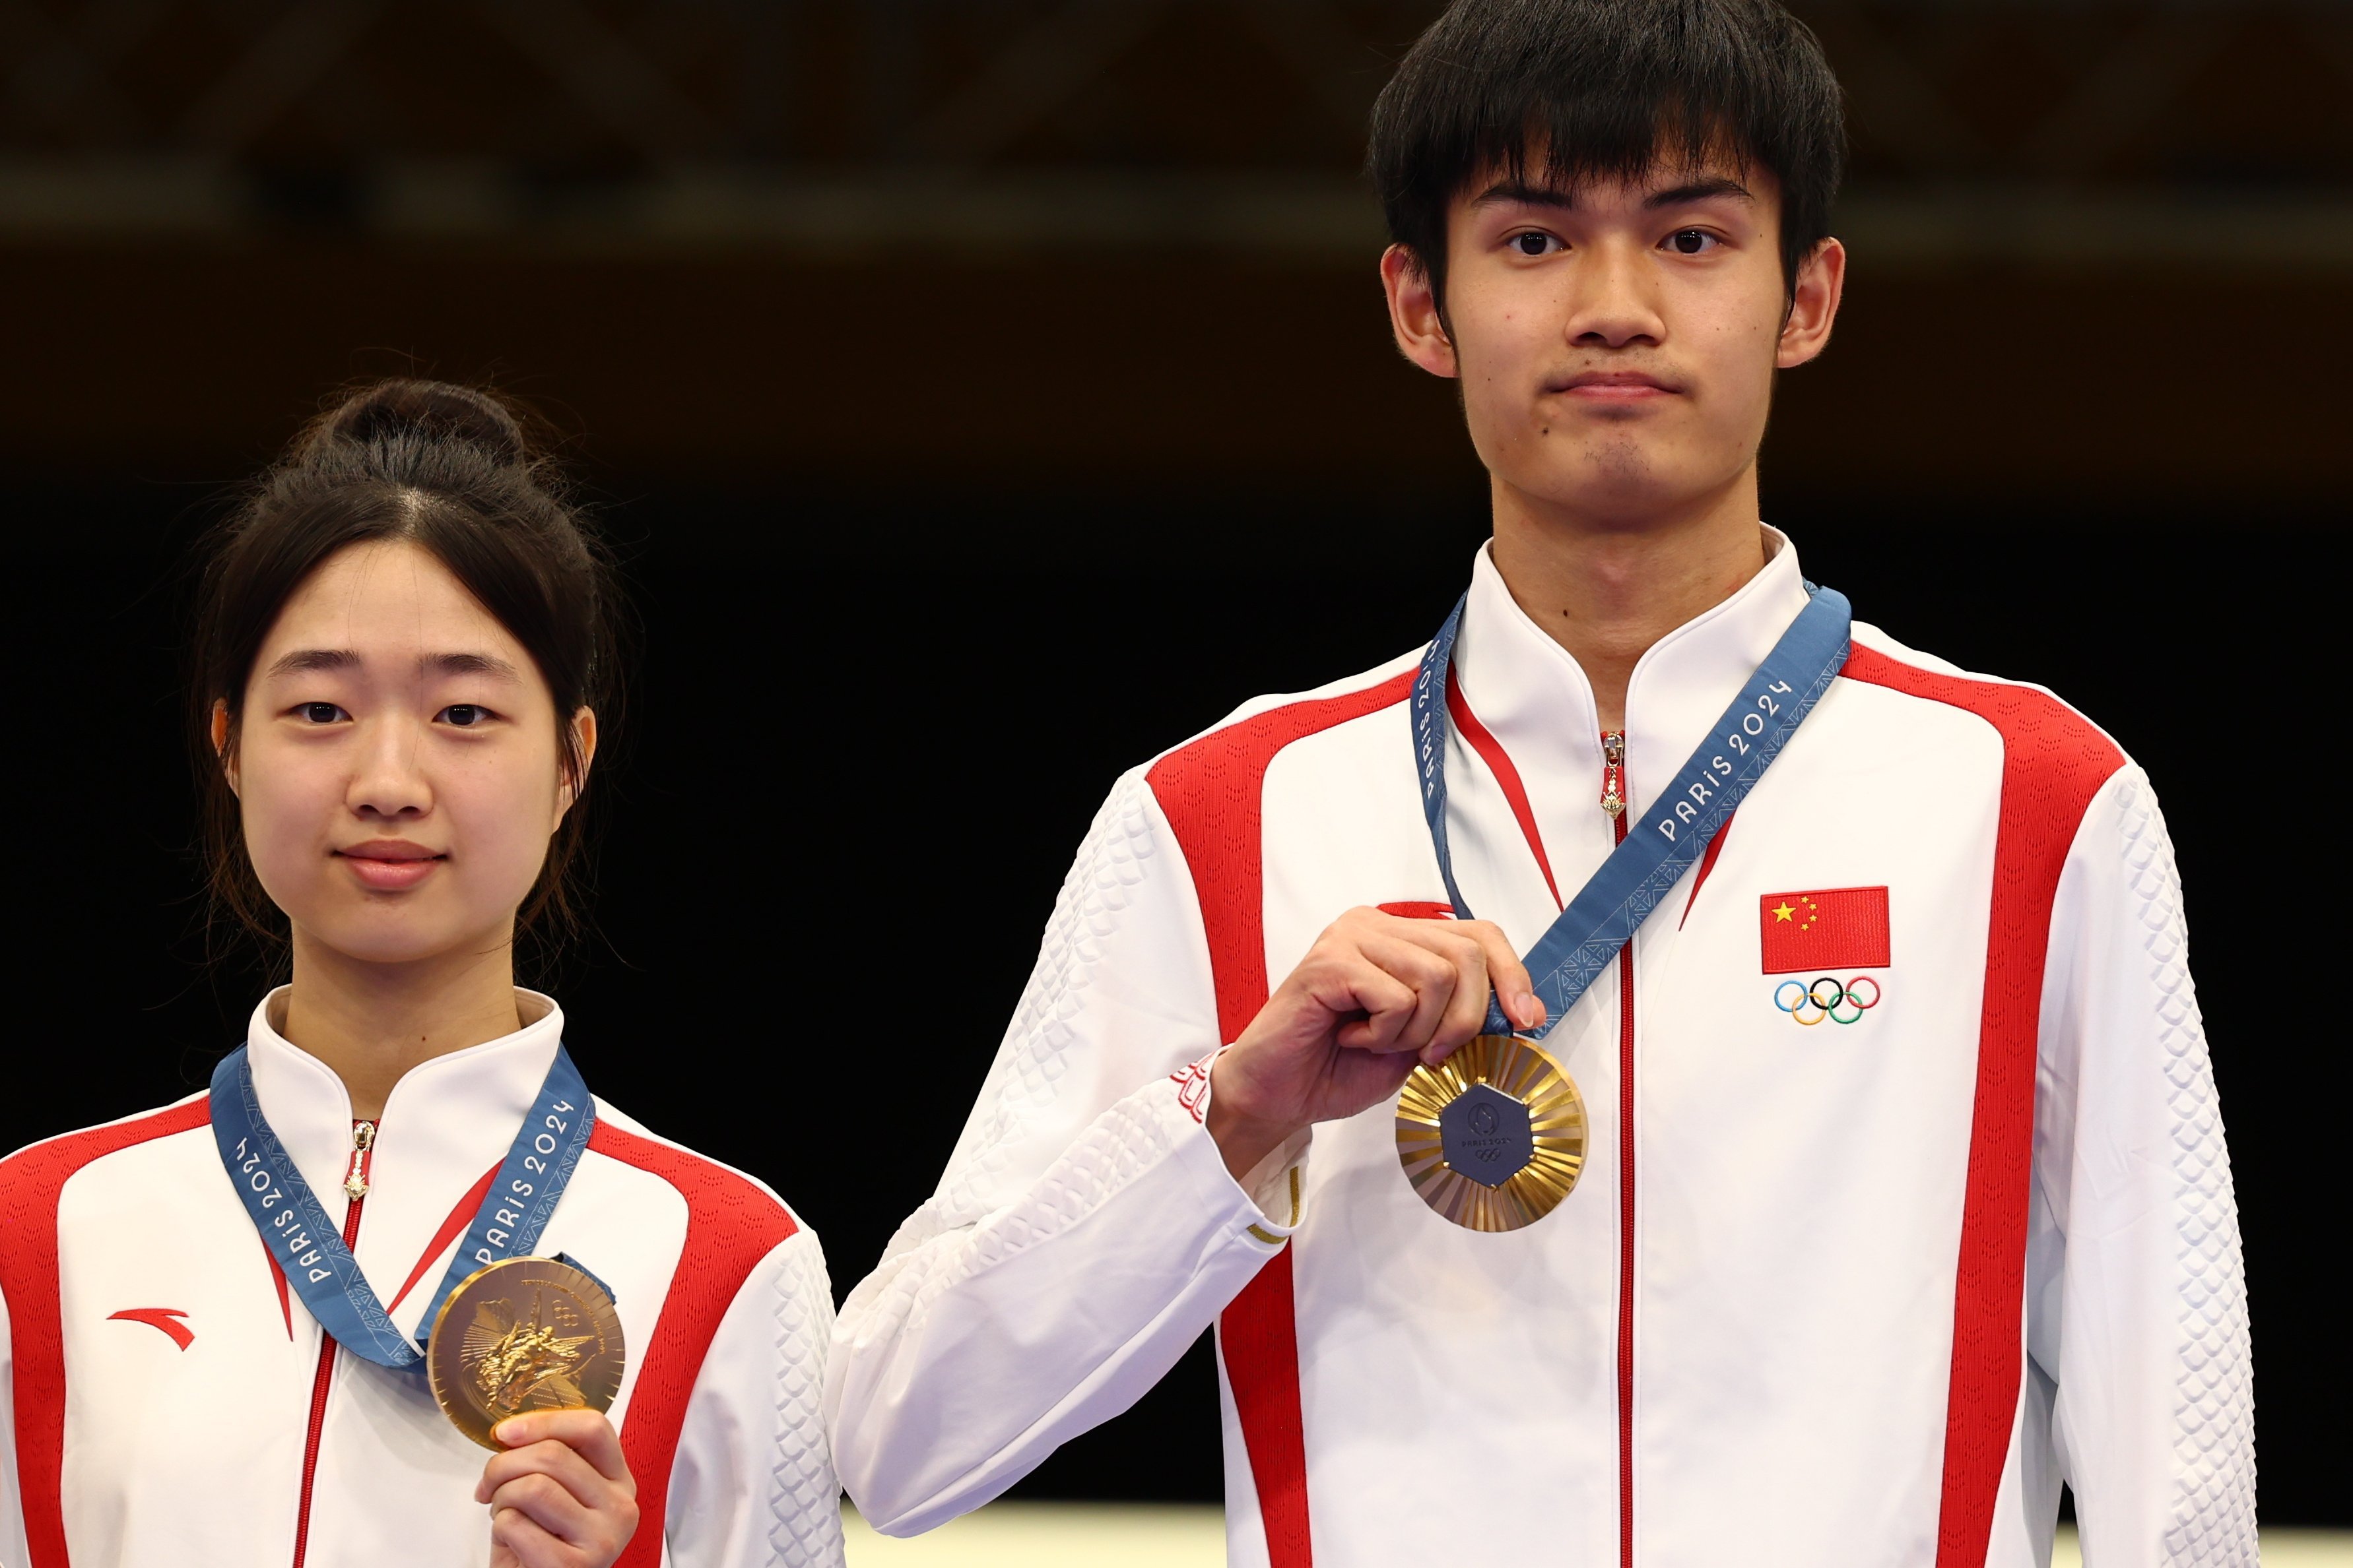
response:
[[[1626,682],[1642,654],[1765,569],[1755,470],[1649,517],[1579,515],[1499,482],[1494,567],[1527,618],[1584,668],[1602,729],[1626,729]]]

